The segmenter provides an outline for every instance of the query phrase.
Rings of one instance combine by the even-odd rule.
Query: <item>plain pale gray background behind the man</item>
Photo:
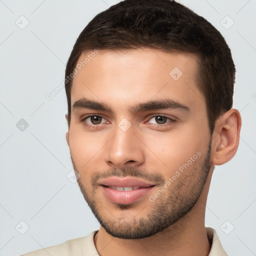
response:
[[[65,91],[52,100],[46,94],[63,81],[84,26],[116,2],[0,0],[0,255],[20,255],[98,229],[78,185],[66,177],[72,165],[64,137]],[[237,69],[233,106],[242,116],[240,145],[233,159],[214,170],[205,224],[215,228],[228,255],[256,255],[256,1],[180,2],[222,33]],[[26,19],[29,24],[20,29]],[[23,131],[16,127],[21,118],[29,124]]]

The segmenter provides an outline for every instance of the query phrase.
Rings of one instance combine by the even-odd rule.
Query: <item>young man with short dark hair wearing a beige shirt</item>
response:
[[[226,255],[205,227],[214,165],[237,149],[235,67],[220,33],[170,0],[125,0],[79,35],[67,144],[99,230],[25,255]]]

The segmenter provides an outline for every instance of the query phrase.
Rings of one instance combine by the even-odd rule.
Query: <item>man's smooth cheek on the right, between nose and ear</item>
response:
[[[207,132],[197,129],[198,125],[186,124],[170,132],[144,135],[143,140],[147,141],[146,145],[150,149],[146,150],[148,166],[162,172],[168,178],[182,164],[187,161],[190,163],[190,157],[199,159],[197,156],[205,151],[209,137]],[[191,166],[194,164],[195,161]]]

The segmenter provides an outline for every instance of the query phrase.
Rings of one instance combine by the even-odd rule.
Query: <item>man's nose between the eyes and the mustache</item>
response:
[[[132,126],[126,131],[116,126],[115,134],[106,145],[104,160],[110,167],[138,167],[145,160],[144,152],[143,143]]]

